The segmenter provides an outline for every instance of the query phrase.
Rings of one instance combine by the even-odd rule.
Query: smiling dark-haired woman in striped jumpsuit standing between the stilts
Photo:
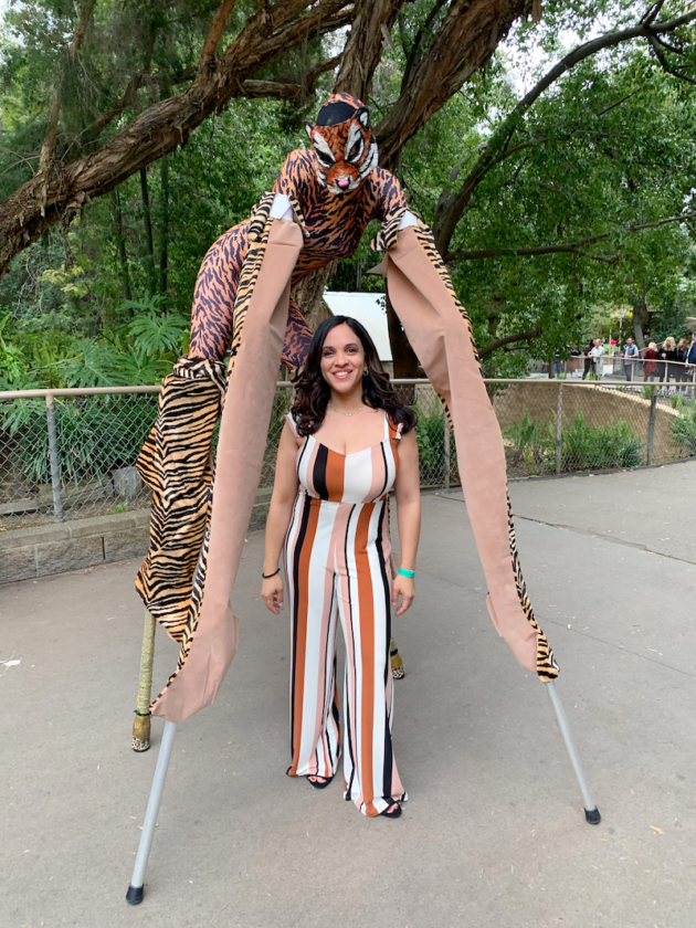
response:
[[[421,524],[415,413],[389,383],[370,336],[335,316],[317,329],[281,435],[266,521],[261,597],[291,608],[291,777],[327,787],[338,767],[336,620],[346,641],[345,799],[396,819],[401,785],[391,744],[390,604],[413,602]],[[401,569],[390,570],[394,488]],[[401,603],[399,604],[399,598]]]

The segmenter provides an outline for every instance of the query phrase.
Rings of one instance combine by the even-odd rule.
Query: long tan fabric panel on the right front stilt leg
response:
[[[399,232],[388,252],[389,295],[423,369],[449,409],[462,487],[498,634],[528,671],[557,668],[529,604],[512,525],[505,452],[471,331],[425,230]],[[540,666],[541,665],[541,666]]]

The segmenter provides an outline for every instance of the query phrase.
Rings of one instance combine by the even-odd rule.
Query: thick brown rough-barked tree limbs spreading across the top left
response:
[[[162,52],[162,42],[171,40],[176,44],[184,36],[179,34],[181,30],[172,32],[161,24],[161,18],[169,10],[166,0],[161,0],[161,6],[155,4],[148,11],[145,28],[138,23],[138,34],[143,36],[138,61],[130,67],[125,86],[123,82],[120,86],[116,85],[118,95],[115,95],[113,91],[107,93],[105,67],[99,71],[98,55],[86,61],[93,24],[93,4],[87,3],[72,33],[67,53],[60,56],[59,86],[50,109],[39,170],[0,204],[0,273],[6,273],[12,259],[53,224],[68,221],[96,197],[108,193],[136,171],[184,145],[194,129],[211,114],[222,112],[233,97],[302,97],[319,74],[336,64],[335,57],[314,65],[300,83],[263,80],[263,68],[348,23],[352,29],[346,41],[336,86],[367,96],[383,46],[391,42],[391,27],[403,4],[404,0],[358,0],[352,4],[347,0],[277,0],[273,4],[260,0],[256,11],[251,13],[251,4],[240,4],[240,8],[246,6],[246,11],[235,10],[235,0],[222,0],[193,62],[190,53],[183,56]],[[537,0],[450,0],[445,4],[436,32],[428,33],[432,35],[430,44],[422,52],[423,43],[419,44],[418,56],[398,99],[377,127],[388,164],[462,83],[489,60],[514,20],[529,12],[532,6],[538,7]],[[176,4],[172,7],[176,9]],[[183,7],[186,9],[186,4]],[[435,7],[443,4],[435,2]],[[235,23],[232,18],[235,11],[238,20],[244,12],[247,14]],[[51,12],[46,9],[49,20]],[[66,29],[65,17],[60,15],[60,10],[55,12]],[[197,12],[198,17],[188,18],[186,38],[189,40],[200,30],[202,11]],[[113,43],[117,13],[115,8],[107,42]],[[134,23],[130,29],[135,29]],[[219,46],[230,32],[234,36],[219,54]],[[98,36],[93,38],[98,44]],[[74,67],[67,67],[66,62]],[[93,97],[101,96],[102,99],[98,106],[97,101],[89,101],[95,118],[81,126],[70,144],[66,141],[59,150],[57,122],[66,96],[62,86],[67,80],[64,74],[71,73],[74,77],[78,63],[85,71],[91,65],[96,77],[95,77],[97,93]],[[182,64],[187,66],[182,67]],[[161,93],[162,87],[187,83],[189,86],[181,93],[144,108],[138,106],[140,91]],[[80,113],[84,115],[84,107]],[[85,154],[71,160],[75,148]]]

